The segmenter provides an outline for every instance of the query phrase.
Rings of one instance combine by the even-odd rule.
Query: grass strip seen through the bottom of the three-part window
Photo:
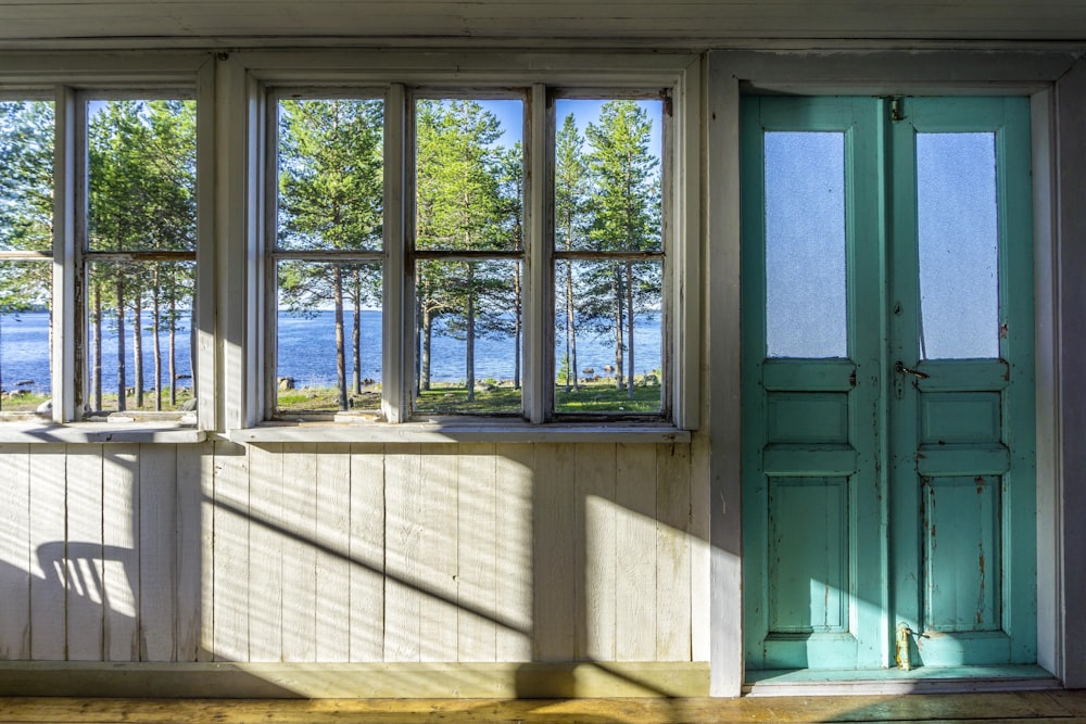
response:
[[[380,385],[350,395],[350,407],[354,410],[376,410],[381,406]],[[578,414],[642,414],[652,415],[660,409],[660,388],[644,384],[639,379],[633,398],[627,390],[616,390],[611,380],[582,382],[580,390],[566,392],[561,386],[555,390],[555,408],[558,412]],[[431,390],[419,393],[416,409],[430,415],[518,415],[521,411],[521,390],[509,382],[488,383],[476,386],[475,398],[468,399],[464,384],[435,383]],[[339,398],[334,388],[300,388],[278,393],[278,408],[281,414],[317,412],[339,410]]]

